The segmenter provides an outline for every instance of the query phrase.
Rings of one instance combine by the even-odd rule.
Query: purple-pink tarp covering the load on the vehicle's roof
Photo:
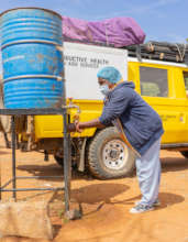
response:
[[[101,43],[114,47],[142,44],[145,38],[141,26],[132,18],[125,16],[96,22],[63,16],[63,34],[65,41]]]

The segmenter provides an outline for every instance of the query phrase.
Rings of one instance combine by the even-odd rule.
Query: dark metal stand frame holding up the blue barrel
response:
[[[12,198],[16,201],[16,191],[32,191],[32,190],[64,190],[65,196],[65,211],[69,210],[70,199],[70,180],[71,180],[71,150],[70,150],[70,135],[67,132],[68,114],[67,109],[77,108],[76,106],[65,106],[59,109],[45,108],[45,109],[0,109],[0,114],[11,116],[11,134],[12,134],[12,179],[9,179],[3,186],[0,183],[0,200],[2,191],[12,191]],[[15,117],[16,116],[44,116],[44,114],[60,114],[63,116],[64,139],[64,187],[53,188],[18,188],[16,179],[33,179],[42,176],[16,176],[16,156],[15,156]],[[63,176],[44,176],[43,178],[59,178]],[[12,188],[5,187],[12,183]]]

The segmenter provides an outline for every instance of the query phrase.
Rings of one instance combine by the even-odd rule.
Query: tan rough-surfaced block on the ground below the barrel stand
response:
[[[0,202],[0,237],[53,239],[48,207],[44,201]]]

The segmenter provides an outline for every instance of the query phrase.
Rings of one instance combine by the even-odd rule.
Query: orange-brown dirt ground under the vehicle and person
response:
[[[41,153],[16,151],[18,176],[42,176],[38,179],[18,180],[18,187],[63,186],[62,178],[44,176],[62,175],[62,168],[53,156],[43,161]],[[129,178],[98,180],[74,172],[71,206],[82,205],[84,217],[66,221],[59,217],[63,191],[20,191],[19,200],[47,200],[52,205],[51,219],[55,228],[53,242],[188,242],[188,160],[178,152],[161,152],[162,206],[154,211],[131,215],[129,209],[140,199],[135,174]],[[4,148],[0,138],[1,182],[11,176],[11,150]],[[11,199],[3,193],[2,200]],[[25,238],[3,238],[2,242],[46,242]]]

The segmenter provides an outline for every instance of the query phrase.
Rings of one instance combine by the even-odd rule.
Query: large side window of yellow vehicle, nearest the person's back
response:
[[[140,67],[141,95],[168,97],[167,69]]]

